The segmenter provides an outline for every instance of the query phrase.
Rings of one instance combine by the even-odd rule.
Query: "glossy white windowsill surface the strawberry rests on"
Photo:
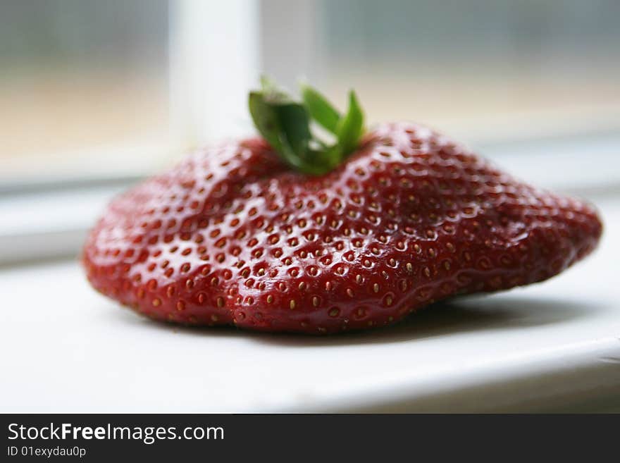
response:
[[[329,338],[154,323],[75,263],[0,271],[0,412],[526,411],[620,401],[620,202],[547,283]],[[617,406],[618,402],[615,406]]]

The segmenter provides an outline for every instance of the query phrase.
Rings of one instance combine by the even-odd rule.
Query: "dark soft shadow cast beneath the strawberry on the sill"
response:
[[[247,337],[254,342],[285,347],[330,347],[411,342],[459,333],[504,331],[567,323],[596,316],[604,309],[595,302],[517,295],[481,295],[436,302],[398,323],[372,331],[359,330],[333,336],[299,336],[292,333],[247,333],[230,326],[171,326],[152,319],[128,316],[128,323],[197,337]],[[116,312],[118,315],[118,312]]]

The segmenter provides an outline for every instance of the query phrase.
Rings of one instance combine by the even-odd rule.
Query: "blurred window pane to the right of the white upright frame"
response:
[[[333,94],[466,140],[620,128],[616,0],[323,1]]]

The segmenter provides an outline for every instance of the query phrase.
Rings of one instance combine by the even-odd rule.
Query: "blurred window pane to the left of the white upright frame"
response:
[[[118,173],[167,142],[166,1],[4,0],[0,44],[0,183]]]

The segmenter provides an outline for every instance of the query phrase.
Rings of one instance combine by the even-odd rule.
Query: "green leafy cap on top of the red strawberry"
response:
[[[353,90],[345,114],[308,85],[301,85],[301,94],[302,100],[297,101],[263,77],[261,89],[249,94],[249,112],[256,129],[289,166],[309,175],[323,175],[358,146],[364,135],[364,113]],[[313,133],[315,124],[329,140]]]

